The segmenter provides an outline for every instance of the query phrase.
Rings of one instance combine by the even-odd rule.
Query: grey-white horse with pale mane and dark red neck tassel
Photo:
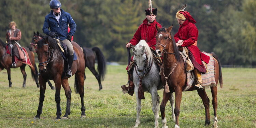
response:
[[[145,40],[141,40],[135,47],[132,46],[133,60],[135,67],[133,69],[133,83],[135,85],[135,94],[137,99],[137,119],[134,128],[140,124],[140,111],[141,111],[141,99],[139,99],[139,85],[140,79],[142,80],[143,91],[149,92],[152,98],[152,111],[155,116],[155,128],[158,127],[159,118],[159,95],[157,90],[163,88],[161,79],[159,76],[160,69],[157,67],[157,63],[153,58],[150,47]],[[174,115],[174,98],[171,94],[170,102],[172,106],[172,118],[175,120]]]

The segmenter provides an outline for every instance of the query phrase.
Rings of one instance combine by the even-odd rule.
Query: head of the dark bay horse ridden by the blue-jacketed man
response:
[[[49,36],[39,40],[37,44],[36,53],[38,55],[39,70],[41,73],[45,73],[46,66],[49,63],[53,55],[53,49],[56,49],[56,46],[54,45],[54,40]]]

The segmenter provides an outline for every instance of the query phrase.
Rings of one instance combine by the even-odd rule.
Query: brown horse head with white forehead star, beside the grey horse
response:
[[[157,57],[160,57],[160,56],[162,56],[163,53],[166,53],[167,49],[171,48],[171,45],[173,44],[172,36],[170,34],[170,32],[172,30],[172,26],[169,28],[164,28],[164,27],[159,28],[156,25],[157,34],[156,34],[156,49],[155,49],[155,51],[156,51]],[[172,47],[174,47],[174,46],[172,46]],[[176,47],[176,45],[175,45],[175,47]]]

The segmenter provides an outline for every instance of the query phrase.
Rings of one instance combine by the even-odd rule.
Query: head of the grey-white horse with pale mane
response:
[[[132,46],[133,60],[136,62],[137,70],[145,73],[147,66],[151,65],[152,52],[145,40],[141,40],[135,47]]]

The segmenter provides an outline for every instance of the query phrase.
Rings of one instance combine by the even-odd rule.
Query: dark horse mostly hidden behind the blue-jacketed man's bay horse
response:
[[[30,43],[29,49],[30,51],[34,51],[36,49],[36,42],[38,42],[43,36],[39,34],[39,32],[34,32],[34,37]],[[99,90],[102,89],[101,81],[104,80],[105,73],[106,73],[106,60],[102,52],[98,47],[93,47],[91,49],[83,47],[84,52],[84,59],[85,59],[85,68],[88,67],[88,69],[94,74],[96,79],[99,83]],[[95,69],[95,60],[98,60],[98,67],[97,71]],[[49,85],[51,83],[47,81]]]

